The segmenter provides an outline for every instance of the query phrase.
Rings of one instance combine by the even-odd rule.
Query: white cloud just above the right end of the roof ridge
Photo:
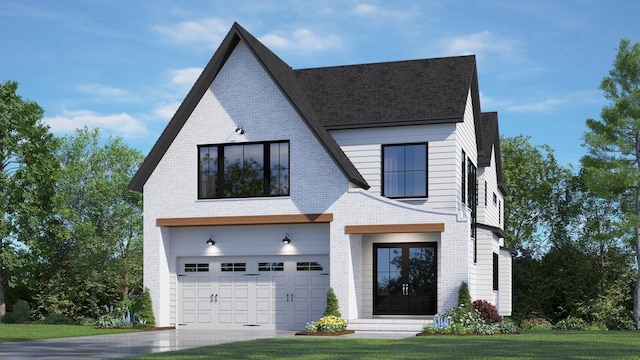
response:
[[[481,53],[497,53],[504,56],[515,52],[513,40],[487,30],[445,39],[442,43],[445,47],[445,53],[454,56]]]

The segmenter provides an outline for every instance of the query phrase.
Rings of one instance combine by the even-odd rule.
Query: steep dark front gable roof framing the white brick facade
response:
[[[160,135],[160,138],[151,149],[149,155],[145,158],[140,169],[138,169],[138,172],[131,179],[129,188],[142,192],[144,184],[151,176],[151,173],[158,163],[160,163],[169,146],[240,41],[243,41],[247,45],[251,53],[260,62],[274,83],[280,88],[283,95],[289,100],[289,103],[298,112],[307,124],[309,130],[311,130],[316,139],[318,139],[320,144],[325,148],[345,177],[353,184],[368,189],[369,184],[367,184],[353,163],[347,158],[333,137],[331,137],[327,130],[320,124],[309,100],[296,80],[296,76],[291,67],[267,49],[238,23],[234,23],[231,30],[229,30],[222,44],[218,47],[198,80],[196,80],[196,83]]]

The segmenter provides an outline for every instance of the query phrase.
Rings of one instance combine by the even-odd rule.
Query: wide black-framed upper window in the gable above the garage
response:
[[[198,198],[289,195],[289,142],[198,147]]]

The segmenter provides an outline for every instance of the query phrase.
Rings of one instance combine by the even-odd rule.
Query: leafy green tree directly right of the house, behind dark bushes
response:
[[[500,139],[505,198],[505,242],[520,255],[540,257],[553,242],[568,237],[576,209],[562,167],[548,145],[534,146],[528,137]]]

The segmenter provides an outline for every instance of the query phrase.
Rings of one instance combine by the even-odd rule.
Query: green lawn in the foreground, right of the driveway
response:
[[[421,336],[401,340],[278,338],[208,346],[135,359],[638,359],[640,332],[525,332]]]

